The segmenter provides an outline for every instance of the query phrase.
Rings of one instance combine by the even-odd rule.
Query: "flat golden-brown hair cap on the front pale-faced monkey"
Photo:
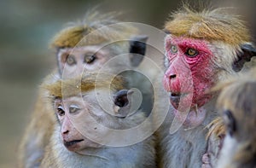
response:
[[[60,79],[53,84],[42,84],[41,87],[49,91],[49,96],[62,98],[102,88],[122,90],[125,88],[125,79],[107,73],[86,73],[82,78]]]

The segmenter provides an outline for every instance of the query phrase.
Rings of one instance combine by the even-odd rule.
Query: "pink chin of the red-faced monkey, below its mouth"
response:
[[[193,94],[172,94],[170,103],[172,104],[175,117],[183,123],[185,127],[196,127],[201,125],[206,118],[207,110],[202,107],[210,97],[204,97],[196,104]]]

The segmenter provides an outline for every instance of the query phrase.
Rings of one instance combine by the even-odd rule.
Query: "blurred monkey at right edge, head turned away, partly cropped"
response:
[[[217,107],[225,130],[218,168],[256,167],[256,69],[222,86]]]

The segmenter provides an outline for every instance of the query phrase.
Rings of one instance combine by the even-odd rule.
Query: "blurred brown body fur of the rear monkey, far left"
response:
[[[54,83],[59,78],[54,75],[55,73],[49,74],[44,78],[44,81],[47,81],[47,84]],[[31,121],[26,127],[26,132],[19,146],[18,167],[20,168],[37,167],[43,159],[44,147],[49,143],[52,132],[50,130],[53,130],[55,115],[54,113],[47,113],[52,108],[48,106],[48,101],[44,97],[46,97],[45,90],[39,88]]]

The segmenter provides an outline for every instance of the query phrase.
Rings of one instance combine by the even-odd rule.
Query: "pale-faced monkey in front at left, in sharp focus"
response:
[[[104,142],[103,139],[112,131],[137,126],[145,116],[144,113],[119,116],[106,112],[98,104],[96,95],[108,95],[106,101],[110,111],[118,114],[114,112],[116,106],[129,107],[131,101],[127,96],[133,93],[124,90],[124,78],[115,77],[112,80],[108,79],[108,74],[103,74],[96,81],[95,76],[88,73],[79,80],[61,79],[54,84],[43,84],[42,87],[49,92],[49,104],[55,109],[52,112],[57,119],[40,167],[155,167],[153,136],[143,142],[119,147]],[[112,81],[110,92],[108,81]],[[79,85],[79,89],[76,85]],[[97,122],[96,125],[93,120]],[[134,135],[132,133],[117,139],[129,141]],[[110,139],[113,141],[112,137]]]

